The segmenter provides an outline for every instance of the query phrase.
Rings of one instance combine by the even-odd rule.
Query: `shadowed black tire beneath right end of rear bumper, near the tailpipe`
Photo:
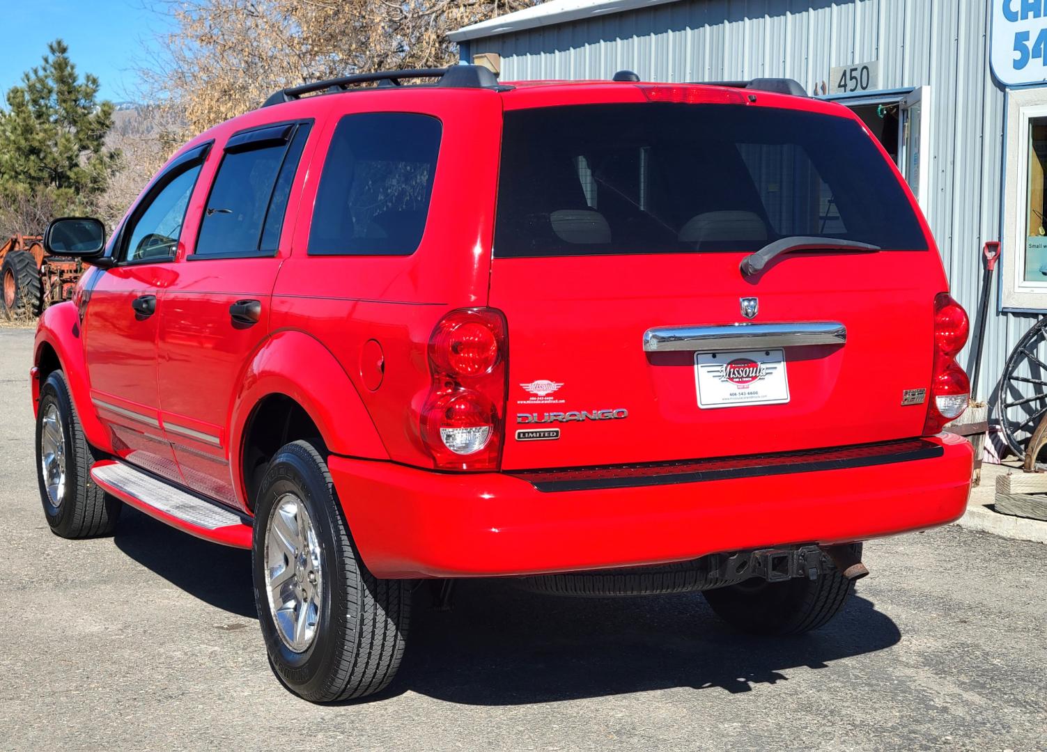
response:
[[[861,559],[862,544],[851,548]],[[829,563],[814,580],[797,577],[768,583],[752,578],[703,595],[716,615],[736,630],[755,635],[798,635],[828,623],[853,591],[854,583]]]

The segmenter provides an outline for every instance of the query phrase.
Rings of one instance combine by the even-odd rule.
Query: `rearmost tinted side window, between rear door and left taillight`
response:
[[[343,117],[320,176],[309,253],[414,253],[425,232],[441,133],[429,115]]]

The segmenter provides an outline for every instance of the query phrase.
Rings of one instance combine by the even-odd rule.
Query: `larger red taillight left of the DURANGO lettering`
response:
[[[451,311],[432,329],[422,437],[436,466],[498,469],[508,354],[506,320],[493,309]]]

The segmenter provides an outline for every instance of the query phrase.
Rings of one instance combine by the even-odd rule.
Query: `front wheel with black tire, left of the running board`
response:
[[[52,371],[37,408],[37,481],[44,517],[62,538],[111,535],[122,506],[91,479],[103,459],[84,437],[65,373]]]

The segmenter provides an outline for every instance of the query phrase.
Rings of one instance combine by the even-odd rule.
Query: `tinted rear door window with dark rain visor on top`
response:
[[[195,257],[272,255],[309,123],[232,136],[207,197]]]

